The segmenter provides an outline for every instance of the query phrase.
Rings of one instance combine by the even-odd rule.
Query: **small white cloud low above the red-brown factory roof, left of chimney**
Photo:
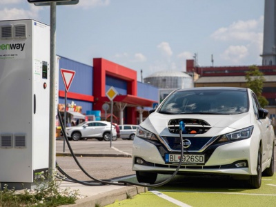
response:
[[[248,55],[246,46],[229,46],[223,54],[220,55],[221,59],[239,63],[244,57]]]

